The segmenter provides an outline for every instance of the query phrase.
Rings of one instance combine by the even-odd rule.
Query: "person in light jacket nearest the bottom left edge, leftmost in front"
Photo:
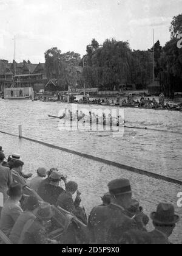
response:
[[[23,212],[19,204],[22,197],[21,185],[18,183],[12,183],[7,193],[9,199],[7,199],[4,207],[2,208],[0,230],[2,230],[6,236],[9,236],[15,222]]]

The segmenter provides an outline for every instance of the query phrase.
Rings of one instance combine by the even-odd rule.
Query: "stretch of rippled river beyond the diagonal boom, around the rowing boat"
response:
[[[58,116],[60,110],[69,106],[56,102],[0,101],[0,129],[17,133],[18,125],[22,124],[25,137],[182,180],[180,133],[125,128],[123,137],[113,137],[108,132],[59,129],[60,120],[48,115]],[[106,111],[106,106],[81,107]],[[181,116],[180,112],[167,110],[124,108],[127,126],[181,132]]]

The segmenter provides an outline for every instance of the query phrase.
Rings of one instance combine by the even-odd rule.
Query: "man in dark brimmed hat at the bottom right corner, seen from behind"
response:
[[[180,216],[175,215],[174,206],[171,204],[159,204],[157,212],[150,215],[155,230],[150,232],[152,244],[170,244],[169,236],[175,229]]]

